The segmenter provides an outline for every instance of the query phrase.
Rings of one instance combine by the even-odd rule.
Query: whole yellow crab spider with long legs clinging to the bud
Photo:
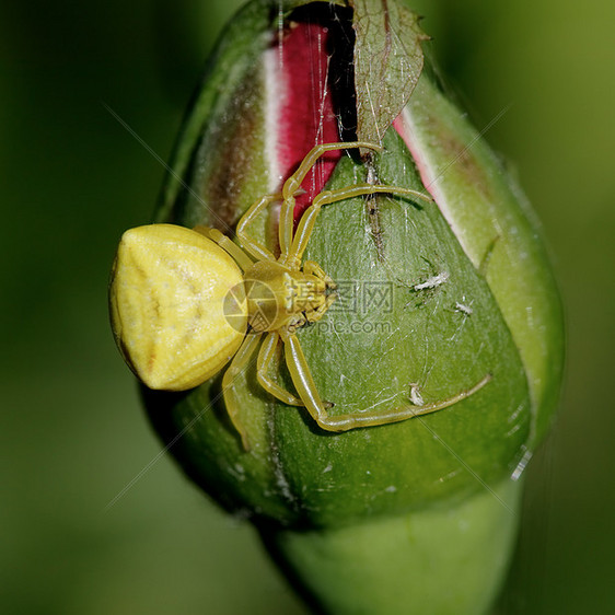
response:
[[[337,149],[368,148],[363,141],[316,146],[285,182],[281,194],[256,201],[236,227],[241,247],[216,229],[189,230],[150,224],[127,231],[119,243],[109,288],[111,320],[117,345],[131,370],[150,388],[185,391],[216,375],[231,361],[222,379],[229,416],[250,448],[239,419],[234,380],[257,347],[256,375],[274,397],[305,406],[328,431],[385,425],[451,406],[480,388],[488,376],[449,399],[408,405],[390,413],[329,416],[322,401],[297,329],[323,317],[335,300],[335,282],[303,253],[324,205],[360,195],[387,193],[431,200],[406,188],[358,184],[324,190],[303,213],[293,231],[294,197],[316,160]],[[250,236],[250,224],[275,200],[281,200],[280,256]],[[263,339],[264,338],[264,339]],[[297,395],[269,373],[279,341]]]

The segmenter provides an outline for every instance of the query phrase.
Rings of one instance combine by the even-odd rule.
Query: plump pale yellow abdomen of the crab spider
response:
[[[150,388],[184,391],[218,373],[245,337],[243,275],[218,244],[172,224],[126,231],[111,283],[124,358]],[[229,300],[233,320],[227,317]]]

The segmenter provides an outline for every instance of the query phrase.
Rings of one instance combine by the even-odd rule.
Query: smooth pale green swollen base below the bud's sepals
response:
[[[522,487],[507,480],[445,510],[347,527],[259,530],[316,613],[486,615],[508,568]]]

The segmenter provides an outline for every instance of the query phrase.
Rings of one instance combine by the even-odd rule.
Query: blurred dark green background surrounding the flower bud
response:
[[[149,220],[164,169],[105,105],[167,160],[240,1],[8,4],[0,612],[306,613],[251,529],[160,454],[107,324],[116,242]],[[544,223],[567,310],[561,411],[527,472],[500,613],[613,613],[615,4],[413,7],[477,126],[512,103],[487,137]]]

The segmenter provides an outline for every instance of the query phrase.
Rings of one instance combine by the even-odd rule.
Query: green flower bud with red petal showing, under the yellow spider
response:
[[[429,549],[463,566],[478,548],[467,600],[450,606],[476,612],[492,596],[514,532],[509,509],[519,487],[509,479],[519,479],[544,437],[561,375],[561,312],[537,224],[423,70],[426,36],[413,13],[393,0],[385,9],[378,0],[279,7],[251,2],[229,25],[156,221],[229,234],[314,144],[382,144],[362,158],[357,150],[323,156],[295,219],[325,184],[380,184],[433,200],[379,194],[323,207],[304,259],[333,278],[337,298],[297,338],[332,416],[405,420],[324,431],[305,408],[267,393],[255,362],[232,384],[250,450],[227,413],[223,372],[183,393],[143,388],[146,406],[185,472],[228,510],[251,517],[325,608],[359,612],[361,596],[364,612],[406,613],[385,591],[399,584],[391,569],[398,580],[411,575],[404,567],[420,568]],[[271,207],[252,230],[274,253],[278,217]],[[274,374],[294,392],[281,359]],[[408,542],[410,526],[423,542]],[[367,544],[370,561],[355,576],[323,575],[323,554],[341,570]],[[417,612],[445,604],[437,585],[408,588],[422,605]]]

